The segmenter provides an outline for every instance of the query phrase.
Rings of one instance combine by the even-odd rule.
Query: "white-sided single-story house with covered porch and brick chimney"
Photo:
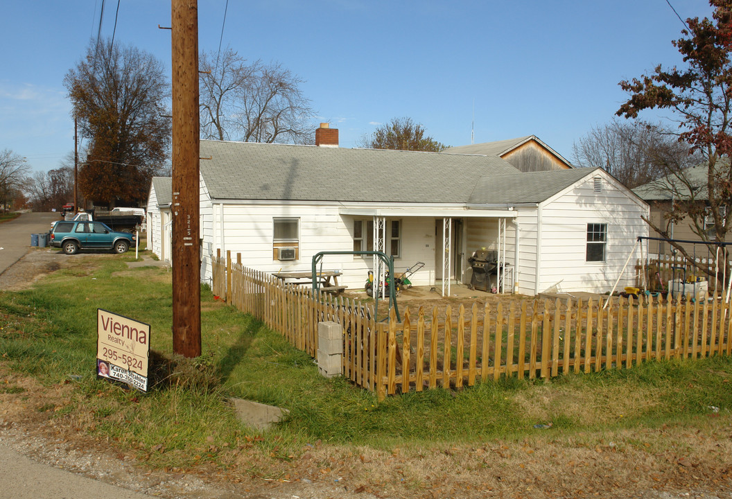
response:
[[[604,292],[648,235],[646,203],[601,169],[521,173],[483,155],[339,149],[337,135],[321,146],[201,140],[201,158],[204,281],[217,250],[277,272],[310,271],[321,251],[382,249],[397,271],[425,262],[414,285],[449,293],[470,282],[468,258],[485,247],[504,264],[507,292]],[[324,258],[351,289],[373,267],[371,257]],[[634,282],[627,269],[621,285]]]

